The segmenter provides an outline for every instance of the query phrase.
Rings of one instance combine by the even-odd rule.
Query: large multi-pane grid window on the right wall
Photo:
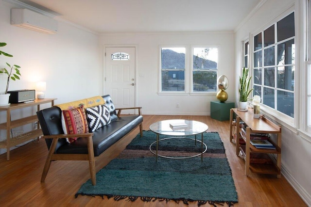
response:
[[[294,12],[254,36],[254,95],[294,118]]]

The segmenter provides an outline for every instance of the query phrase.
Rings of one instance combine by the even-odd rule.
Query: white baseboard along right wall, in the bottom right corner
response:
[[[307,206],[311,206],[311,195],[299,185],[296,179],[290,174],[290,172],[282,165],[282,175],[289,182],[289,184],[294,188],[294,190],[298,193],[298,195],[302,198],[302,200],[307,204]]]

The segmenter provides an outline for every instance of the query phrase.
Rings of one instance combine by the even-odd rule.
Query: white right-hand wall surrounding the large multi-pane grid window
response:
[[[248,21],[236,31],[235,37],[235,79],[240,76],[241,66],[241,42],[249,33],[254,33],[261,27],[270,26],[270,22],[281,15],[294,5],[295,0],[267,0],[258,8],[259,10],[248,18]],[[297,1],[298,2],[298,1]],[[296,4],[295,18],[300,19],[299,3]],[[296,22],[297,23],[297,22]],[[299,28],[296,24],[295,27]],[[299,34],[296,34],[296,40]],[[299,51],[299,41],[296,41],[296,48]],[[296,61],[298,64],[299,61]],[[298,68],[298,67],[296,67]],[[297,72],[298,73],[298,72]],[[299,76],[297,76],[299,78]],[[238,88],[238,82],[235,83]],[[295,95],[296,96],[296,95]],[[297,95],[299,96],[299,95]],[[238,100],[238,94],[236,94]],[[269,116],[269,114],[266,114]],[[298,115],[299,117],[299,115]],[[311,143],[310,140],[304,139],[297,135],[297,131],[290,130],[286,126],[282,126],[282,174],[300,194],[304,201],[311,206]]]

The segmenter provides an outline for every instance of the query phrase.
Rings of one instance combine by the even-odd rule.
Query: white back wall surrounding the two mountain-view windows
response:
[[[216,92],[203,96],[158,95],[159,45],[216,45],[219,48],[218,75],[228,77],[228,101],[234,101],[233,32],[103,34],[101,44],[103,47],[137,46],[137,106],[143,107],[144,114],[209,115],[210,101],[217,100]],[[179,108],[176,108],[176,103],[179,104]]]

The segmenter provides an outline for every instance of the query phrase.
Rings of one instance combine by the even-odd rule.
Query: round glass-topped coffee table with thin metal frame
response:
[[[155,160],[157,161],[157,157],[162,158],[170,158],[170,159],[185,159],[185,158],[193,158],[201,155],[201,161],[203,161],[203,153],[207,151],[207,145],[203,142],[203,132],[207,131],[208,126],[202,122],[192,121],[192,120],[184,120],[184,119],[170,119],[155,122],[150,125],[150,130],[155,132],[156,134],[156,141],[152,143],[149,147],[150,151],[155,154]],[[167,137],[164,139],[159,140],[159,135],[167,135],[173,137]],[[201,134],[201,141],[196,139],[196,135]],[[195,139],[192,139],[190,135],[195,135]],[[189,156],[189,157],[167,157],[158,154],[158,145],[159,142],[162,140],[167,139],[189,139],[194,140],[194,143],[200,142],[201,143],[201,153]],[[156,143],[155,152],[151,149],[152,145]],[[203,145],[205,146],[205,150],[203,151]]]

